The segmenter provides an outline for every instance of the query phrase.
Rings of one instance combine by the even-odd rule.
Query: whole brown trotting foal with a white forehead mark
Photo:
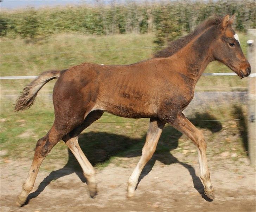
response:
[[[39,75],[17,100],[15,111],[33,104],[40,88],[58,78],[53,89],[55,121],[50,131],[37,141],[28,177],[17,204],[22,206],[33,188],[39,167],[59,140],[73,152],[87,178],[90,196],[96,195],[95,171],[78,144],[78,135],[103,112],[127,118],[149,118],[142,156],[128,179],[128,197],[134,196],[143,167],[151,159],[165,123],[187,135],[197,146],[200,178],[205,194],[213,199],[214,189],[206,159],[204,135],[182,111],[194,96],[194,88],[209,62],[218,60],[240,78],[250,74],[250,64],[242,53],[231,24],[234,17],[213,16],[192,33],[170,43],[154,58],[131,65],[83,63],[64,71]]]

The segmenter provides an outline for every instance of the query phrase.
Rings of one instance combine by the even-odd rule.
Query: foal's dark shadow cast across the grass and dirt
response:
[[[219,121],[209,115],[208,113],[196,114],[193,119],[193,124],[200,128],[207,128],[211,132],[217,132],[222,129],[222,125]],[[199,121],[196,121],[199,120]],[[200,120],[212,120],[211,122],[204,122]],[[156,153],[153,155],[152,159],[147,163],[147,165],[142,170],[139,178],[145,177],[155,164],[156,160],[161,163],[169,165],[172,163],[179,163],[183,165],[190,172],[193,180],[194,188],[201,194],[202,198],[207,201],[211,201],[204,194],[204,186],[201,183],[199,177],[197,177],[195,170],[192,166],[179,161],[175,158],[170,151],[174,150],[178,146],[178,140],[181,137],[181,133],[170,126],[166,126],[162,132],[159,139],[158,147],[156,148]],[[141,139],[132,139],[123,135],[117,135],[114,133],[105,132],[89,132],[83,133],[79,136],[79,145],[81,146],[84,154],[91,162],[93,166],[104,163],[111,156],[119,157],[137,157],[141,155],[142,147],[145,143],[146,134]],[[192,141],[191,141],[192,142]],[[56,180],[65,175],[69,175],[75,172],[83,183],[86,182],[83,176],[82,169],[78,164],[76,158],[73,156],[70,150],[68,150],[69,159],[67,164],[56,171],[52,171],[38,186],[37,190],[29,194],[27,201],[32,198],[37,197],[47,185],[50,184],[52,180]]]

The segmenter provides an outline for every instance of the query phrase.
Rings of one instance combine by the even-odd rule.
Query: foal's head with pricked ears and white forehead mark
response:
[[[231,27],[234,19],[235,15],[231,18],[226,15],[218,25],[219,36],[213,44],[213,57],[223,62],[242,79],[251,73],[251,66],[242,52],[238,35]]]

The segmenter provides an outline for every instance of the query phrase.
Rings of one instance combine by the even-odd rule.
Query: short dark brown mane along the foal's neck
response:
[[[193,32],[191,32],[190,34],[170,42],[168,47],[156,52],[154,54],[154,57],[155,58],[170,57],[171,55],[175,54],[180,49],[182,49],[184,46],[186,46],[198,34],[205,31],[205,29],[207,29],[213,25],[218,25],[221,22],[222,22],[222,17],[220,17],[218,15],[214,15],[214,16],[210,17],[209,19],[206,19],[204,22],[202,22],[200,25],[198,25],[196,27],[196,29]]]

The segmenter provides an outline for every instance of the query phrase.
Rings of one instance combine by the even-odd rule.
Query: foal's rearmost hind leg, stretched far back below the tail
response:
[[[57,130],[55,125],[53,124],[51,130],[43,138],[37,141],[36,150],[34,153],[34,158],[30,167],[30,171],[28,173],[25,183],[22,186],[21,193],[18,196],[16,202],[18,206],[22,206],[25,203],[28,194],[34,186],[41,163],[43,162],[46,155],[49,154],[52,147],[58,143],[58,141],[63,137],[64,134],[64,132],[60,132],[59,130]]]

